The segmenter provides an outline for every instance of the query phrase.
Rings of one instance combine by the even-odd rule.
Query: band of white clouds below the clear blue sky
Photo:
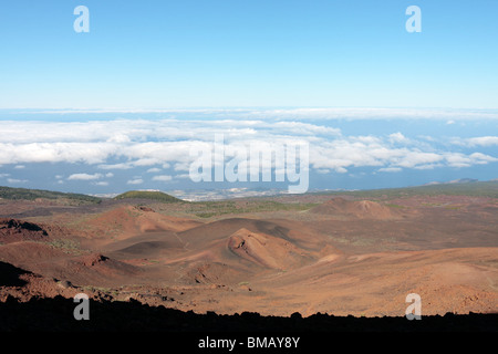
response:
[[[298,113],[295,110],[292,112],[299,115],[299,110]],[[280,113],[281,116],[290,114],[288,111]],[[309,113],[303,111],[301,115]],[[0,133],[0,165],[83,164],[101,173],[82,170],[70,175],[66,180],[91,181],[100,186],[106,186],[108,183],[104,179],[120,174],[120,170],[138,167],[145,168],[147,179],[154,181],[185,178],[194,160],[189,153],[214,150],[216,136],[222,136],[226,149],[232,152],[251,144],[307,143],[310,168],[320,174],[344,174],[357,167],[371,167],[378,173],[465,168],[498,162],[492,154],[478,150],[498,146],[498,136],[494,135],[449,136],[440,144],[430,136],[408,138],[398,131],[376,135],[344,134],[331,124],[298,119],[7,121],[2,122]],[[262,164],[263,168],[272,167],[271,160]],[[168,168],[170,170],[166,173]],[[136,176],[127,184],[142,185],[144,177]]]

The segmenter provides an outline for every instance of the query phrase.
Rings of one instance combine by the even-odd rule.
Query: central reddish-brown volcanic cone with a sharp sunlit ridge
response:
[[[250,264],[264,264],[268,268],[280,267],[269,261],[263,253],[276,259],[288,258],[282,260],[280,266],[283,266],[286,262],[299,263],[309,258],[318,259],[335,251],[326,235],[317,233],[300,221],[289,220],[230,218],[178,232],[177,238],[185,252],[181,259],[221,262],[251,259]],[[238,249],[237,244],[241,242],[247,244]]]

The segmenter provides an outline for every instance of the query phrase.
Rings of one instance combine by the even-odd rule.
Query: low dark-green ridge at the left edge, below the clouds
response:
[[[65,199],[77,202],[101,202],[102,199],[74,192],[51,191],[42,189],[0,187],[0,198],[9,200]]]

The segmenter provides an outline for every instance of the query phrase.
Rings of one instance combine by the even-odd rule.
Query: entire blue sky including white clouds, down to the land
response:
[[[495,0],[3,1],[0,185],[287,188],[193,183],[189,149],[216,134],[309,144],[310,189],[497,178],[497,14]]]

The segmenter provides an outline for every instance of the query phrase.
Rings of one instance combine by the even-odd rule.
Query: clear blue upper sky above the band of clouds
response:
[[[73,10],[90,10],[76,33]],[[408,33],[405,10],[422,9]],[[498,2],[3,1],[1,108],[497,108]]]

